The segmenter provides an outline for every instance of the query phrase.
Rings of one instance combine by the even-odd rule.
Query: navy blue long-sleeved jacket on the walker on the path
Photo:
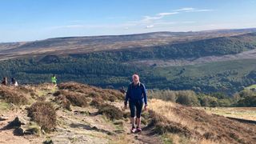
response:
[[[145,86],[139,82],[138,85],[134,86],[134,83],[130,83],[128,86],[128,90],[126,92],[126,101],[125,104],[127,104],[129,101],[136,101],[136,100],[142,100],[145,104],[147,104],[147,96],[146,96],[146,88]]]

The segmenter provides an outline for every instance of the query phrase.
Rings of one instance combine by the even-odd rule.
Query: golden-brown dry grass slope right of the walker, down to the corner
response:
[[[253,143],[256,139],[255,125],[236,122],[216,114],[206,114],[204,110],[156,99],[150,101],[150,109],[165,116],[163,127],[168,127],[171,123],[185,127],[191,134],[190,142]]]

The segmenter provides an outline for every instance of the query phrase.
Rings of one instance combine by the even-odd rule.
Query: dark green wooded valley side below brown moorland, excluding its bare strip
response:
[[[50,76],[57,74],[58,82],[75,81],[118,88],[127,86],[130,76],[138,73],[149,89],[234,94],[255,83],[254,59],[170,67],[132,62],[238,54],[255,47],[256,33],[250,33],[143,48],[19,58],[0,62],[0,76],[14,77],[20,83],[42,83],[50,82]]]

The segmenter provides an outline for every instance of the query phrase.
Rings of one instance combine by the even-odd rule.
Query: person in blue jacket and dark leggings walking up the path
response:
[[[132,123],[132,128],[130,131],[132,133],[135,133],[142,131],[141,114],[144,103],[144,110],[147,110],[147,96],[146,88],[141,82],[139,82],[138,74],[134,74],[132,78],[133,82],[130,83],[126,92],[125,109],[127,108],[127,102],[129,100],[130,122]],[[137,124],[137,126],[135,126],[135,123]]]

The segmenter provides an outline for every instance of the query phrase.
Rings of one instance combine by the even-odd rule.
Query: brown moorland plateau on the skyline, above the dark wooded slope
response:
[[[102,50],[166,46],[174,43],[230,37],[253,32],[256,32],[256,29],[154,32],[148,34],[49,38],[34,42],[0,43],[0,59],[26,57],[30,54],[81,54]]]

